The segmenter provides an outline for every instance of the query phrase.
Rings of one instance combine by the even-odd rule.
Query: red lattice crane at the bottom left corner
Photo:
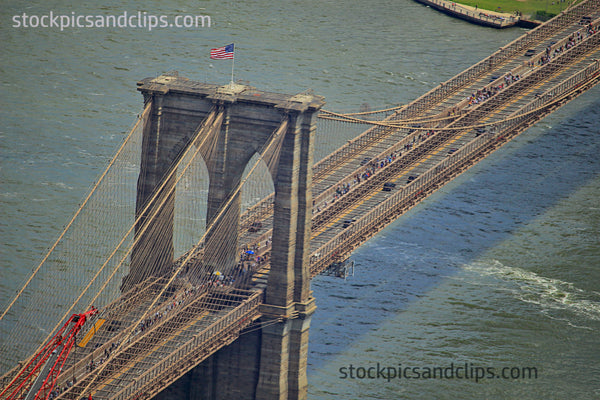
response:
[[[91,310],[83,314],[73,314],[52,339],[27,363],[25,368],[21,369],[11,383],[0,393],[0,397],[4,398],[4,395],[8,395],[6,400],[20,400],[28,397],[29,392],[35,390],[34,383],[39,374],[42,373],[44,366],[46,366],[45,369],[49,369],[48,374],[33,399],[48,399],[75,344],[75,336],[81,330],[87,318],[97,313],[98,310],[92,306]],[[48,360],[53,355],[55,357],[54,361],[50,360],[52,364],[47,365]],[[29,398],[31,397],[29,396]]]

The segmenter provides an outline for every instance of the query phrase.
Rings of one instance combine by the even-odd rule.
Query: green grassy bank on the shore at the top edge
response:
[[[549,19],[543,18],[544,15],[552,17],[567,8],[571,0],[460,0],[458,3],[506,13],[518,11],[525,18],[544,20]]]

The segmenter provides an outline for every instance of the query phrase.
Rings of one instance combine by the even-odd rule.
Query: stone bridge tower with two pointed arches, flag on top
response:
[[[288,120],[279,160],[271,167],[275,187],[271,270],[262,306],[262,330],[240,336],[160,393],[158,399],[303,399],[306,398],[308,328],[314,313],[308,264],[312,206],[313,137],[316,112],[324,104],[314,95],[283,95],[245,85],[217,86],[175,75],[147,78],[138,83],[144,101],[152,103],[144,126],[142,164],[138,179],[138,214],[169,166],[213,107],[224,111],[217,148],[203,154],[209,171],[207,221],[211,221],[226,195],[242,178],[246,164],[270,134]],[[226,254],[238,258],[239,195],[237,214],[219,231],[226,234]],[[149,254],[173,260],[174,196],[161,211],[169,219],[171,240],[152,230],[144,232],[132,253],[124,289],[138,283],[150,268],[154,275],[168,273],[168,262],[148,265]],[[166,211],[165,211],[166,210]],[[234,213],[235,214],[235,213]],[[164,220],[161,226],[165,226]],[[225,228],[225,229],[224,229]],[[206,252],[210,251],[210,238]],[[221,242],[223,247],[223,242]],[[277,319],[280,322],[272,324]]]

